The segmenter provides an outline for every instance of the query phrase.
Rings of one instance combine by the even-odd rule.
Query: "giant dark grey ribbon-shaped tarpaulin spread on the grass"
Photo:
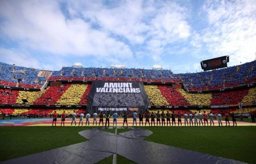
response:
[[[3,164],[92,164],[114,153],[139,164],[240,164],[242,162],[144,141],[152,132],[136,128],[114,134],[99,129],[79,132],[89,141],[36,153]],[[117,161],[118,162],[118,161]]]

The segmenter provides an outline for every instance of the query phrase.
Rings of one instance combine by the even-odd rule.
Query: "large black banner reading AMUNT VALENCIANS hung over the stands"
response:
[[[150,104],[143,82],[93,81],[88,95],[87,112],[93,114],[109,111],[132,114],[145,112]]]

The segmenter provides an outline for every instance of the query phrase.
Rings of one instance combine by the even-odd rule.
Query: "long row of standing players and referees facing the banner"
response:
[[[102,112],[99,114],[99,125],[101,124],[102,122],[102,126],[103,126],[103,116],[104,114],[102,114]],[[137,126],[137,113],[134,111],[132,113],[132,116],[133,116],[133,124],[132,126],[134,126],[134,122]],[[65,117],[66,117],[66,114],[65,114],[65,111],[61,114],[61,126],[63,124],[63,126],[65,126]],[[77,117],[77,114],[74,113],[72,114],[72,121],[71,121],[71,126],[73,124],[73,122],[75,122],[75,126],[76,126],[76,117]],[[86,117],[86,124],[88,123],[88,126],[90,126],[90,117],[91,117],[91,114],[87,113],[85,115]],[[97,117],[98,117],[98,114],[95,113],[93,114],[93,126],[94,126],[94,122],[96,123],[96,126],[97,126]],[[113,117],[113,126],[114,126],[114,123],[116,123],[116,126],[117,126],[117,117],[118,117],[118,114],[115,113],[112,115]],[[174,114],[174,112],[171,114],[169,113],[169,111],[167,111],[167,113],[165,114],[163,111],[162,113],[160,114],[159,111],[157,112],[157,114],[155,114],[154,112],[150,113],[150,112],[146,112],[146,115],[145,115],[145,118],[146,118],[146,122],[145,122],[145,126],[148,122],[148,125],[150,126],[150,122],[149,122],[149,119],[151,118],[151,126],[153,125],[154,123],[154,126],[155,126],[155,118],[157,118],[157,126],[158,126],[158,122],[159,122],[159,126],[161,126],[161,122],[160,122],[160,119],[162,121],[162,126],[165,126],[165,118],[166,118],[166,121],[167,121],[167,126],[168,126],[168,122],[169,122],[169,125],[171,126],[171,122],[170,122],[170,118],[172,118],[172,126],[173,126],[173,123],[174,123],[174,126],[176,126],[176,119],[175,119],[176,115]],[[186,122],[187,122],[187,126],[188,126],[188,118],[189,118],[189,125],[191,126],[191,123],[192,123],[192,126],[193,126],[193,119],[194,119],[194,124],[195,126],[198,126],[198,121],[199,120],[199,126],[201,126],[201,122],[202,122],[202,125],[203,125],[203,120],[204,120],[204,126],[206,126],[206,123],[207,123],[207,126],[208,126],[208,117],[210,117],[210,126],[213,125],[214,126],[214,117],[217,119],[218,123],[219,123],[219,126],[222,126],[222,115],[221,114],[218,114],[216,113],[215,116],[212,114],[212,112],[210,112],[210,114],[208,115],[208,113],[206,113],[205,111],[203,112],[203,114],[199,111],[199,113],[197,114],[196,112],[193,114],[192,112],[190,112],[189,114],[187,114],[185,112],[184,114],[184,123],[185,123],[185,126],[186,126]],[[233,121],[233,126],[236,124],[237,126],[237,122],[236,122],[236,118],[235,118],[235,114],[234,112],[231,114],[231,117],[232,117],[232,121]],[[80,114],[80,120],[79,120],[79,126],[80,126],[80,123],[82,123],[82,126],[83,126],[83,118],[84,118],[84,114],[81,113]],[[108,126],[109,126],[109,118],[110,118],[110,114],[109,112],[107,111],[107,113],[105,114],[105,126],[107,125],[108,123]],[[126,113],[124,113],[123,115],[123,118],[124,118],[124,122],[123,122],[123,126],[124,126],[124,123],[126,123],[126,126],[128,126],[127,124],[127,118],[128,118],[128,115]],[[56,121],[57,121],[57,113],[56,111],[53,113],[53,121],[52,121],[52,126],[53,126],[53,123],[55,122],[55,126],[56,126]],[[226,126],[227,126],[227,122],[230,126],[230,123],[229,123],[229,114],[226,112],[225,113],[225,121],[226,121]],[[142,126],[143,126],[143,113],[140,111],[139,113],[139,126],[140,126],[140,123],[142,123]],[[178,126],[182,126],[182,122],[181,122],[181,114],[179,113],[178,114]]]

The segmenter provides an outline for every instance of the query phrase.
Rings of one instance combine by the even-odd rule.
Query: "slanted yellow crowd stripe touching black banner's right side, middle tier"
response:
[[[154,105],[169,105],[166,98],[163,97],[161,91],[158,89],[157,85],[144,85],[148,98],[150,98],[150,102]]]

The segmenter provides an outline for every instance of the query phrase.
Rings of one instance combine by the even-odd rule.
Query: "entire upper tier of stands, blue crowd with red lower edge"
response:
[[[39,88],[50,79],[183,82],[188,90],[212,90],[256,82],[256,60],[239,66],[200,73],[173,74],[170,70],[63,67],[42,71],[0,62],[0,85]],[[17,83],[17,79],[21,79]]]

